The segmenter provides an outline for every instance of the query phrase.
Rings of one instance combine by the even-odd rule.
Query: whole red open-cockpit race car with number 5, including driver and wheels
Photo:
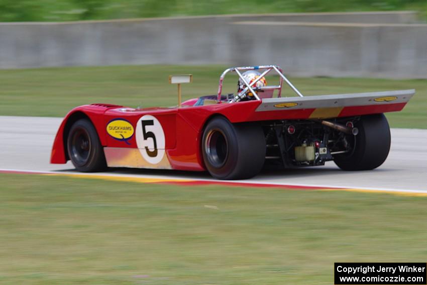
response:
[[[277,85],[267,85],[271,71],[279,75]],[[239,76],[238,91],[225,95],[229,72]],[[281,97],[283,82],[298,97]],[[333,160],[344,170],[373,169],[390,149],[383,113],[402,110],[414,92],[303,97],[276,65],[233,67],[221,75],[218,94],[177,107],[74,108],[56,135],[51,163],[70,159],[83,172],[207,170],[219,179],[249,178],[265,164],[289,168]]]

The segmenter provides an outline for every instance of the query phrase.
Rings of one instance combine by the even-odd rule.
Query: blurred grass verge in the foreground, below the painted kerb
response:
[[[422,197],[0,179],[5,284],[330,284],[334,262],[427,257]]]

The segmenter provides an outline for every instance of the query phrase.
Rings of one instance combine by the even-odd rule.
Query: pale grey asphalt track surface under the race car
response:
[[[52,143],[62,118],[0,116],[0,170],[76,174],[73,165],[50,164]],[[212,180],[207,172],[152,169],[110,169],[102,175]],[[386,162],[370,171],[342,171],[334,162],[325,166],[263,170],[244,183],[344,187],[427,194],[427,130],[391,129]]]

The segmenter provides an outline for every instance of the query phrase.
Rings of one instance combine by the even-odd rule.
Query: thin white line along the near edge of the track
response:
[[[378,187],[360,187],[360,186],[337,186],[328,184],[304,184],[304,183],[281,183],[281,182],[265,182],[259,180],[217,180],[217,179],[206,179],[206,178],[194,178],[194,177],[176,177],[166,175],[135,175],[135,174],[121,174],[121,173],[108,173],[108,172],[96,172],[96,173],[83,173],[83,172],[71,172],[71,171],[38,171],[38,170],[22,170],[22,169],[6,169],[0,168],[0,173],[29,173],[29,174],[66,174],[66,175],[78,175],[78,176],[111,176],[111,177],[127,177],[127,178],[152,178],[152,179],[165,179],[165,180],[191,180],[191,181],[206,181],[215,183],[227,183],[227,184],[257,184],[265,186],[297,186],[297,187],[316,187],[326,189],[354,189],[355,191],[372,191],[372,192],[389,192],[389,193],[408,193],[408,194],[427,194],[425,190],[415,189],[397,189],[397,188],[378,188]]]

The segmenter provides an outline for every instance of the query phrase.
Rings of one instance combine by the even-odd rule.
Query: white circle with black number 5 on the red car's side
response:
[[[156,117],[144,115],[135,129],[136,141],[142,157],[151,164],[159,163],[165,155],[165,133]]]

